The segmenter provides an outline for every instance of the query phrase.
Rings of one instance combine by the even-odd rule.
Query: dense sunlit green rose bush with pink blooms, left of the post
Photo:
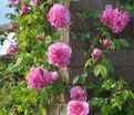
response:
[[[14,32],[17,42],[1,56],[0,114],[42,115],[47,108],[49,115],[50,101],[65,93],[60,70],[70,64],[72,53],[60,42],[63,31],[52,33],[51,29],[64,30],[70,24],[69,10],[43,0],[9,0],[9,7],[16,9],[16,14],[7,14],[12,21],[1,34]]]

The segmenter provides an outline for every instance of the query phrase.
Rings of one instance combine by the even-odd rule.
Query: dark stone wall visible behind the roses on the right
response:
[[[82,9],[87,6],[92,10],[104,9],[106,3],[117,3],[117,0],[81,0],[80,2],[71,2],[70,10],[72,14],[72,31],[74,34],[83,34],[89,32],[91,39],[96,34],[93,28],[93,22],[99,19],[92,17],[86,18],[84,21],[80,21],[78,15]],[[120,51],[112,51],[107,56],[112,60],[115,67],[116,76],[124,76],[128,81],[134,81],[134,21],[130,22],[123,33],[117,34],[120,39],[126,39],[131,46],[128,49],[122,49]],[[78,38],[74,40],[70,34],[70,45],[73,49],[72,62],[70,66],[70,81],[72,77],[83,72],[83,66],[90,54],[81,49],[90,49],[90,44],[84,38]],[[93,76],[93,75],[89,75]]]

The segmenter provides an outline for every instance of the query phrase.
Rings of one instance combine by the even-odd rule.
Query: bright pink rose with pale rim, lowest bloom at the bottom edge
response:
[[[68,115],[87,115],[89,111],[89,103],[86,102],[70,101],[68,103]]]

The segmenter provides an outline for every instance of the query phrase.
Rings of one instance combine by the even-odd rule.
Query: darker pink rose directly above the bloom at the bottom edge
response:
[[[70,97],[73,101],[86,101],[86,93],[81,86],[74,86],[70,91]]]

